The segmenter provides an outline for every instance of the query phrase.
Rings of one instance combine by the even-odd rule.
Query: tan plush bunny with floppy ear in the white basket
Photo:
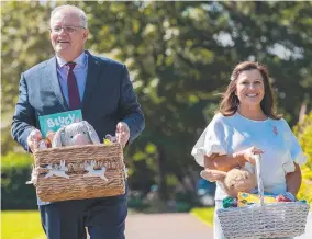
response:
[[[245,169],[232,169],[229,172],[205,169],[200,175],[210,182],[220,182],[225,193],[232,197],[237,197],[238,192],[249,193],[257,185],[255,174]]]

